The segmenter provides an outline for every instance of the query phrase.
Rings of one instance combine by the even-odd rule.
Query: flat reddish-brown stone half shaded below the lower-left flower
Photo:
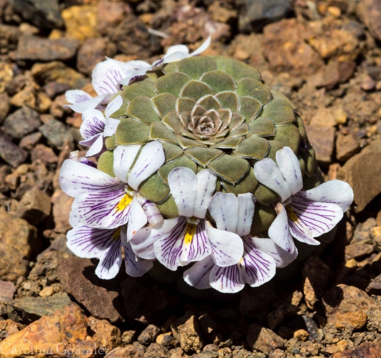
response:
[[[95,266],[89,260],[76,256],[63,258],[58,266],[58,278],[65,292],[72,295],[90,314],[111,323],[121,320],[118,302],[119,293],[110,286],[115,280],[107,281],[95,275]]]

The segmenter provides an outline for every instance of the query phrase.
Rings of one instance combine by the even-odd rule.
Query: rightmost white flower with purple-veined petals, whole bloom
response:
[[[278,150],[275,159],[276,163],[265,158],[254,165],[258,181],[281,198],[275,206],[277,216],[269,237],[289,253],[296,250],[292,236],[306,244],[319,245],[315,237],[332,230],[352,204],[352,188],[340,180],[331,180],[302,190],[299,161],[292,149]]]

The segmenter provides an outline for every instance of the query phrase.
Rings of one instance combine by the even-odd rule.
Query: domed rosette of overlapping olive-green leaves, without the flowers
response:
[[[121,96],[124,104],[112,115],[120,123],[106,139],[109,152],[101,156],[99,168],[112,168],[110,151],[116,146],[160,141],[166,162],[139,192],[166,217],[177,215],[167,180],[176,167],[211,169],[219,178],[217,191],[254,193],[256,231],[268,229],[276,215],[270,204],[279,199],[256,180],[258,160],[275,160],[277,150],[291,147],[305,187],[319,182],[315,153],[296,107],[245,63],[224,56],[187,58],[148,72],[125,86]]]

